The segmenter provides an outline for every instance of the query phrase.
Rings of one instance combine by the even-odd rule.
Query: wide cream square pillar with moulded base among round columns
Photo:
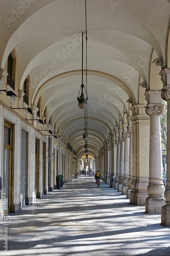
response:
[[[130,204],[145,205],[149,182],[150,117],[145,104],[132,105],[132,182]]]

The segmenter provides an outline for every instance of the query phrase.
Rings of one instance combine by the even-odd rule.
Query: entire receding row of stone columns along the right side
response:
[[[145,91],[147,104],[131,105],[131,116],[120,120],[99,151],[102,179],[121,191],[130,204],[145,205],[170,225],[170,70],[160,72],[163,88]],[[167,101],[167,182],[162,179],[160,115]],[[109,164],[111,162],[111,164]],[[165,201],[166,200],[166,201]]]

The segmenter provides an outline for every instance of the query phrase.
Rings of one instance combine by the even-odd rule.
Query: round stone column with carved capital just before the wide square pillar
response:
[[[147,100],[145,112],[150,116],[150,169],[148,198],[145,200],[145,211],[148,214],[160,214],[165,200],[162,179],[162,149],[160,132],[160,115],[164,111],[161,92],[146,91]]]

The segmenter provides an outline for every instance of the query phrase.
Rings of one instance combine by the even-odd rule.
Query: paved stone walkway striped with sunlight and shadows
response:
[[[8,251],[4,251],[4,227]],[[0,224],[0,255],[170,255],[170,228],[94,177],[80,177]]]

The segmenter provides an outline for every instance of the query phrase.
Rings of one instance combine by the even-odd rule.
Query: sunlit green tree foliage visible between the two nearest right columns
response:
[[[163,100],[165,105],[165,110],[160,116],[160,125],[161,125],[161,142],[162,150],[166,150],[166,138],[167,138],[167,102]]]

